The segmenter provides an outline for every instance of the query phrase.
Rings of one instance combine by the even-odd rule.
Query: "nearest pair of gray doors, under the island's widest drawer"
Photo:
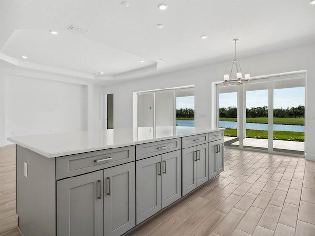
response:
[[[134,162],[57,181],[58,236],[120,236],[135,224]]]

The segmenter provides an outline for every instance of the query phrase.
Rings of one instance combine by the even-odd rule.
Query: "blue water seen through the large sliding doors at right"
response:
[[[274,124],[274,131],[304,132],[304,125]],[[237,122],[219,121],[219,128],[237,129]],[[246,123],[246,129],[268,130],[268,124]]]

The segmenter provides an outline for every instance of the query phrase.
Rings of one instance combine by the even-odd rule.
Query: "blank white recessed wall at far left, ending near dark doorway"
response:
[[[103,127],[103,86],[5,66],[0,82],[0,146],[10,136]]]

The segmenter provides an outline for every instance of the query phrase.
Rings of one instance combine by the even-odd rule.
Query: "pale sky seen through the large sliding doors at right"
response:
[[[305,87],[274,89],[274,108],[305,106]],[[246,92],[246,108],[268,106],[268,90]],[[219,107],[237,107],[237,93],[219,94]]]

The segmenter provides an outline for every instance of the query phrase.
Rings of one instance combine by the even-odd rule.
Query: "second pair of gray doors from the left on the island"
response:
[[[181,152],[136,161],[137,224],[181,197]]]

